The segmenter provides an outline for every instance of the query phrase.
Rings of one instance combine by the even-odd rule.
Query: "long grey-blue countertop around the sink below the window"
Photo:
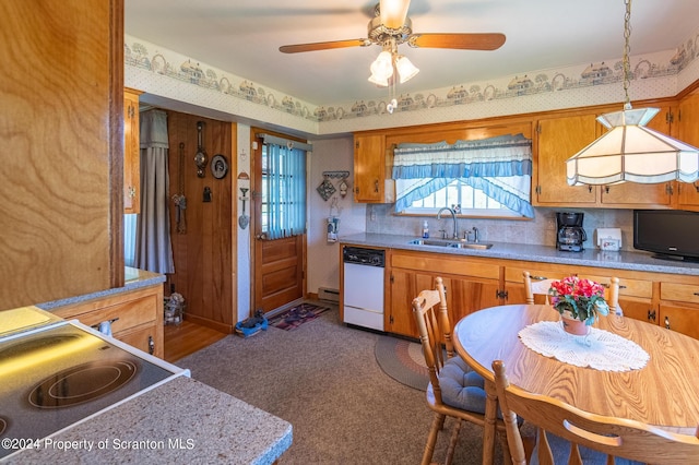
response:
[[[339,238],[341,243],[370,246],[383,249],[414,250],[420,252],[448,253],[452,255],[484,257],[503,260],[523,260],[543,263],[595,266],[617,270],[683,274],[699,276],[699,263],[653,258],[645,252],[609,252],[589,249],[582,252],[565,252],[549,246],[533,246],[509,242],[490,242],[490,249],[457,249],[450,247],[417,246],[410,243],[415,236],[388,234],[355,234]]]

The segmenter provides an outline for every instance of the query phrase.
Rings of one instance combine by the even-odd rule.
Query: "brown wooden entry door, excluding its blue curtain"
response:
[[[270,131],[264,131],[270,133]],[[279,134],[283,136],[283,134]],[[263,141],[256,136],[252,129],[251,138],[257,145],[252,152],[251,179],[251,223],[252,237],[252,309],[261,309],[265,313],[284,307],[305,296],[306,281],[306,235],[298,235],[282,239],[268,240],[263,230]]]

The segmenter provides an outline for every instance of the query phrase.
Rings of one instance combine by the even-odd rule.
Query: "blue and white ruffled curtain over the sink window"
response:
[[[393,179],[410,180],[396,183],[401,188],[396,212],[458,180],[522,216],[534,217],[532,141],[523,134],[455,144],[399,144],[393,155]]]

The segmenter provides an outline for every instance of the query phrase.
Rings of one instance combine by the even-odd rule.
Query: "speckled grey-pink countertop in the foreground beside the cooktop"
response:
[[[179,377],[7,461],[271,464],[292,445],[292,436],[287,421]]]

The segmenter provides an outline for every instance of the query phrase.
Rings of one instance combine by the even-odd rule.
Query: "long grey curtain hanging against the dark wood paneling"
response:
[[[141,118],[141,214],[137,222],[135,265],[175,273],[168,211],[167,114],[152,109]]]

